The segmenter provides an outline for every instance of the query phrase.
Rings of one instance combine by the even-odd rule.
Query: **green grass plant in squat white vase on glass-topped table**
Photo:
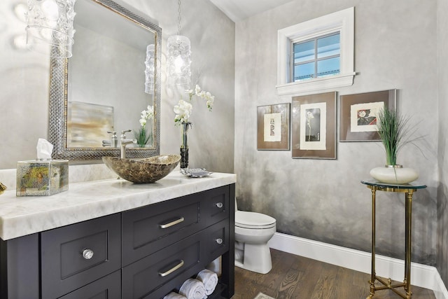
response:
[[[409,116],[400,116],[393,109],[384,106],[377,115],[379,138],[386,151],[386,165],[376,167],[370,175],[383,183],[410,183],[419,178],[419,174],[412,168],[405,168],[397,163],[398,152],[406,144],[415,139],[409,139],[412,126]]]

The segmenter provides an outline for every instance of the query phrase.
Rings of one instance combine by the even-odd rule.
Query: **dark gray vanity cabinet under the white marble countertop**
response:
[[[235,184],[0,241],[0,298],[163,298],[222,256],[234,294]]]

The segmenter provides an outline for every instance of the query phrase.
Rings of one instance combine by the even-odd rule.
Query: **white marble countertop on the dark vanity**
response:
[[[236,174],[215,172],[194,179],[174,170],[155,183],[134,184],[123,179],[70,183],[68,191],[51,196],[16,197],[15,190],[6,190],[0,195],[0,238],[59,228],[236,181]]]

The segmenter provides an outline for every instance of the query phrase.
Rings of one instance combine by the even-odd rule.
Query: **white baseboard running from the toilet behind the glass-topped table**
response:
[[[372,256],[370,252],[294,237],[280,232],[275,233],[268,245],[273,249],[293,253],[297,256],[370,273]],[[405,261],[377,254],[375,255],[375,270],[378,276],[402,281],[405,273]],[[444,286],[435,267],[411,263],[411,273],[412,285],[433,290],[437,299],[448,299],[447,287]]]

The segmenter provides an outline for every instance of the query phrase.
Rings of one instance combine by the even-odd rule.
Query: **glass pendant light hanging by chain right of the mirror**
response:
[[[191,83],[191,50],[190,39],[181,36],[181,0],[178,0],[179,17],[177,35],[169,36],[167,41],[167,73],[169,85],[185,85],[190,87]]]

